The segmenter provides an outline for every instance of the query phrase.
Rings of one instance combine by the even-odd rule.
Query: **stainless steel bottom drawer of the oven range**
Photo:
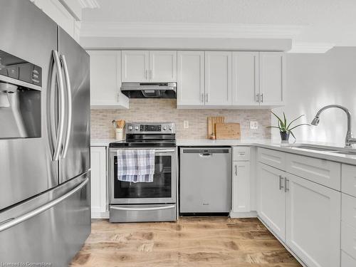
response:
[[[110,205],[110,222],[137,221],[177,221],[177,205]]]

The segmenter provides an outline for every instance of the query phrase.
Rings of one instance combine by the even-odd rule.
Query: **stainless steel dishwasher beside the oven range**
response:
[[[180,212],[226,213],[231,210],[231,148],[179,149]]]

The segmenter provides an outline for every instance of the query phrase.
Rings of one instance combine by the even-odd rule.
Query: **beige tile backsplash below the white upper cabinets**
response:
[[[130,99],[128,110],[91,110],[91,138],[114,138],[112,120],[127,122],[175,122],[177,138],[205,139],[207,117],[224,116],[225,122],[241,124],[241,139],[271,138],[271,113],[269,110],[177,110],[172,99]],[[189,128],[184,129],[184,120]],[[258,122],[258,129],[251,130],[249,122]]]

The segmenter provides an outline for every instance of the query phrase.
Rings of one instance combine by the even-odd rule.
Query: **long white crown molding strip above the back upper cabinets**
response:
[[[82,1],[82,0],[80,0]],[[83,21],[83,37],[295,38],[304,26]]]

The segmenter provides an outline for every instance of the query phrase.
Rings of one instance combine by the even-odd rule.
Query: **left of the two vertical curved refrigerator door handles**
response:
[[[61,154],[61,146],[63,142],[64,135],[64,117],[66,115],[66,103],[64,101],[64,86],[63,86],[63,76],[62,76],[62,68],[61,61],[59,59],[58,51],[52,51],[54,63],[57,68],[57,83],[58,83],[58,91],[59,91],[59,121],[58,121],[58,132],[57,132],[57,143],[53,153],[53,160],[57,161]]]

